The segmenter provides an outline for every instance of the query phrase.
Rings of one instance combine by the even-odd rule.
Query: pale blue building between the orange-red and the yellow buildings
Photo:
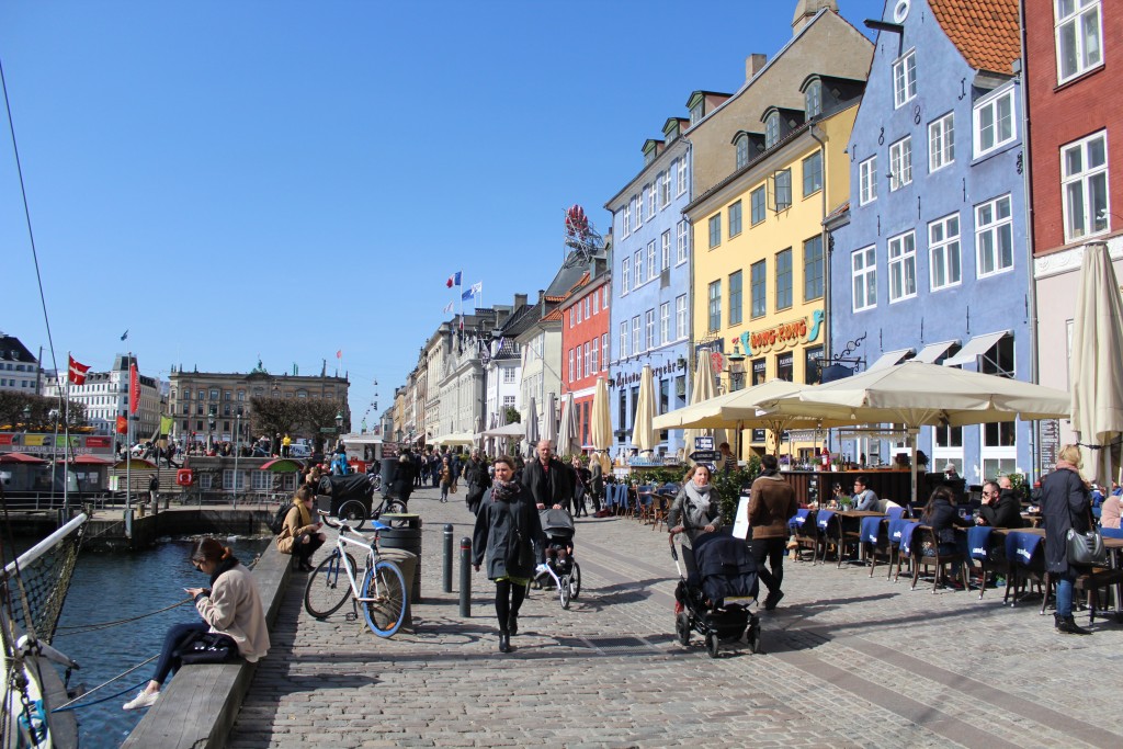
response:
[[[664,140],[643,144],[643,168],[605,208],[612,212],[612,303],[609,321],[613,455],[630,453],[640,374],[650,365],[658,413],[690,398],[691,150],[673,117]],[[682,430],[660,433],[657,453],[674,455]]]

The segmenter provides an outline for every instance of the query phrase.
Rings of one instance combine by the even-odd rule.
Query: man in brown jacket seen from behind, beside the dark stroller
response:
[[[795,490],[779,475],[775,455],[760,459],[760,476],[752,482],[749,496],[749,526],[752,528],[752,556],[757,560],[757,575],[768,588],[765,609],[772,611],[784,597],[784,547],[787,541],[787,521],[798,504]],[[772,572],[765,569],[765,559]]]

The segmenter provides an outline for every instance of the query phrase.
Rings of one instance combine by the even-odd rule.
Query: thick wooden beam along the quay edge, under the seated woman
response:
[[[271,630],[281,610],[291,559],[271,542],[254,567],[265,621]],[[281,656],[275,650],[266,656],[277,657]],[[202,749],[225,746],[256,668],[256,664],[245,661],[184,666],[121,747]]]

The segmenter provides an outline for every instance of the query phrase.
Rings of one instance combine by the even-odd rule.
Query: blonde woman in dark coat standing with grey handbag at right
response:
[[[1072,619],[1072,585],[1076,569],[1068,564],[1065,539],[1068,529],[1087,533],[1092,529],[1092,494],[1080,477],[1080,449],[1066,445],[1057,469],[1041,479],[1041,514],[1046,521],[1046,569],[1057,581],[1057,630],[1068,634],[1090,634]]]

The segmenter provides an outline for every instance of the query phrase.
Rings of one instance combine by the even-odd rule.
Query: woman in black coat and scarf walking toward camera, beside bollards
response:
[[[473,565],[480,572],[486,551],[487,578],[495,581],[499,650],[511,651],[511,636],[519,633],[519,608],[542,559],[546,537],[535,500],[513,481],[514,459],[495,458],[495,482],[480,503],[472,535]]]

